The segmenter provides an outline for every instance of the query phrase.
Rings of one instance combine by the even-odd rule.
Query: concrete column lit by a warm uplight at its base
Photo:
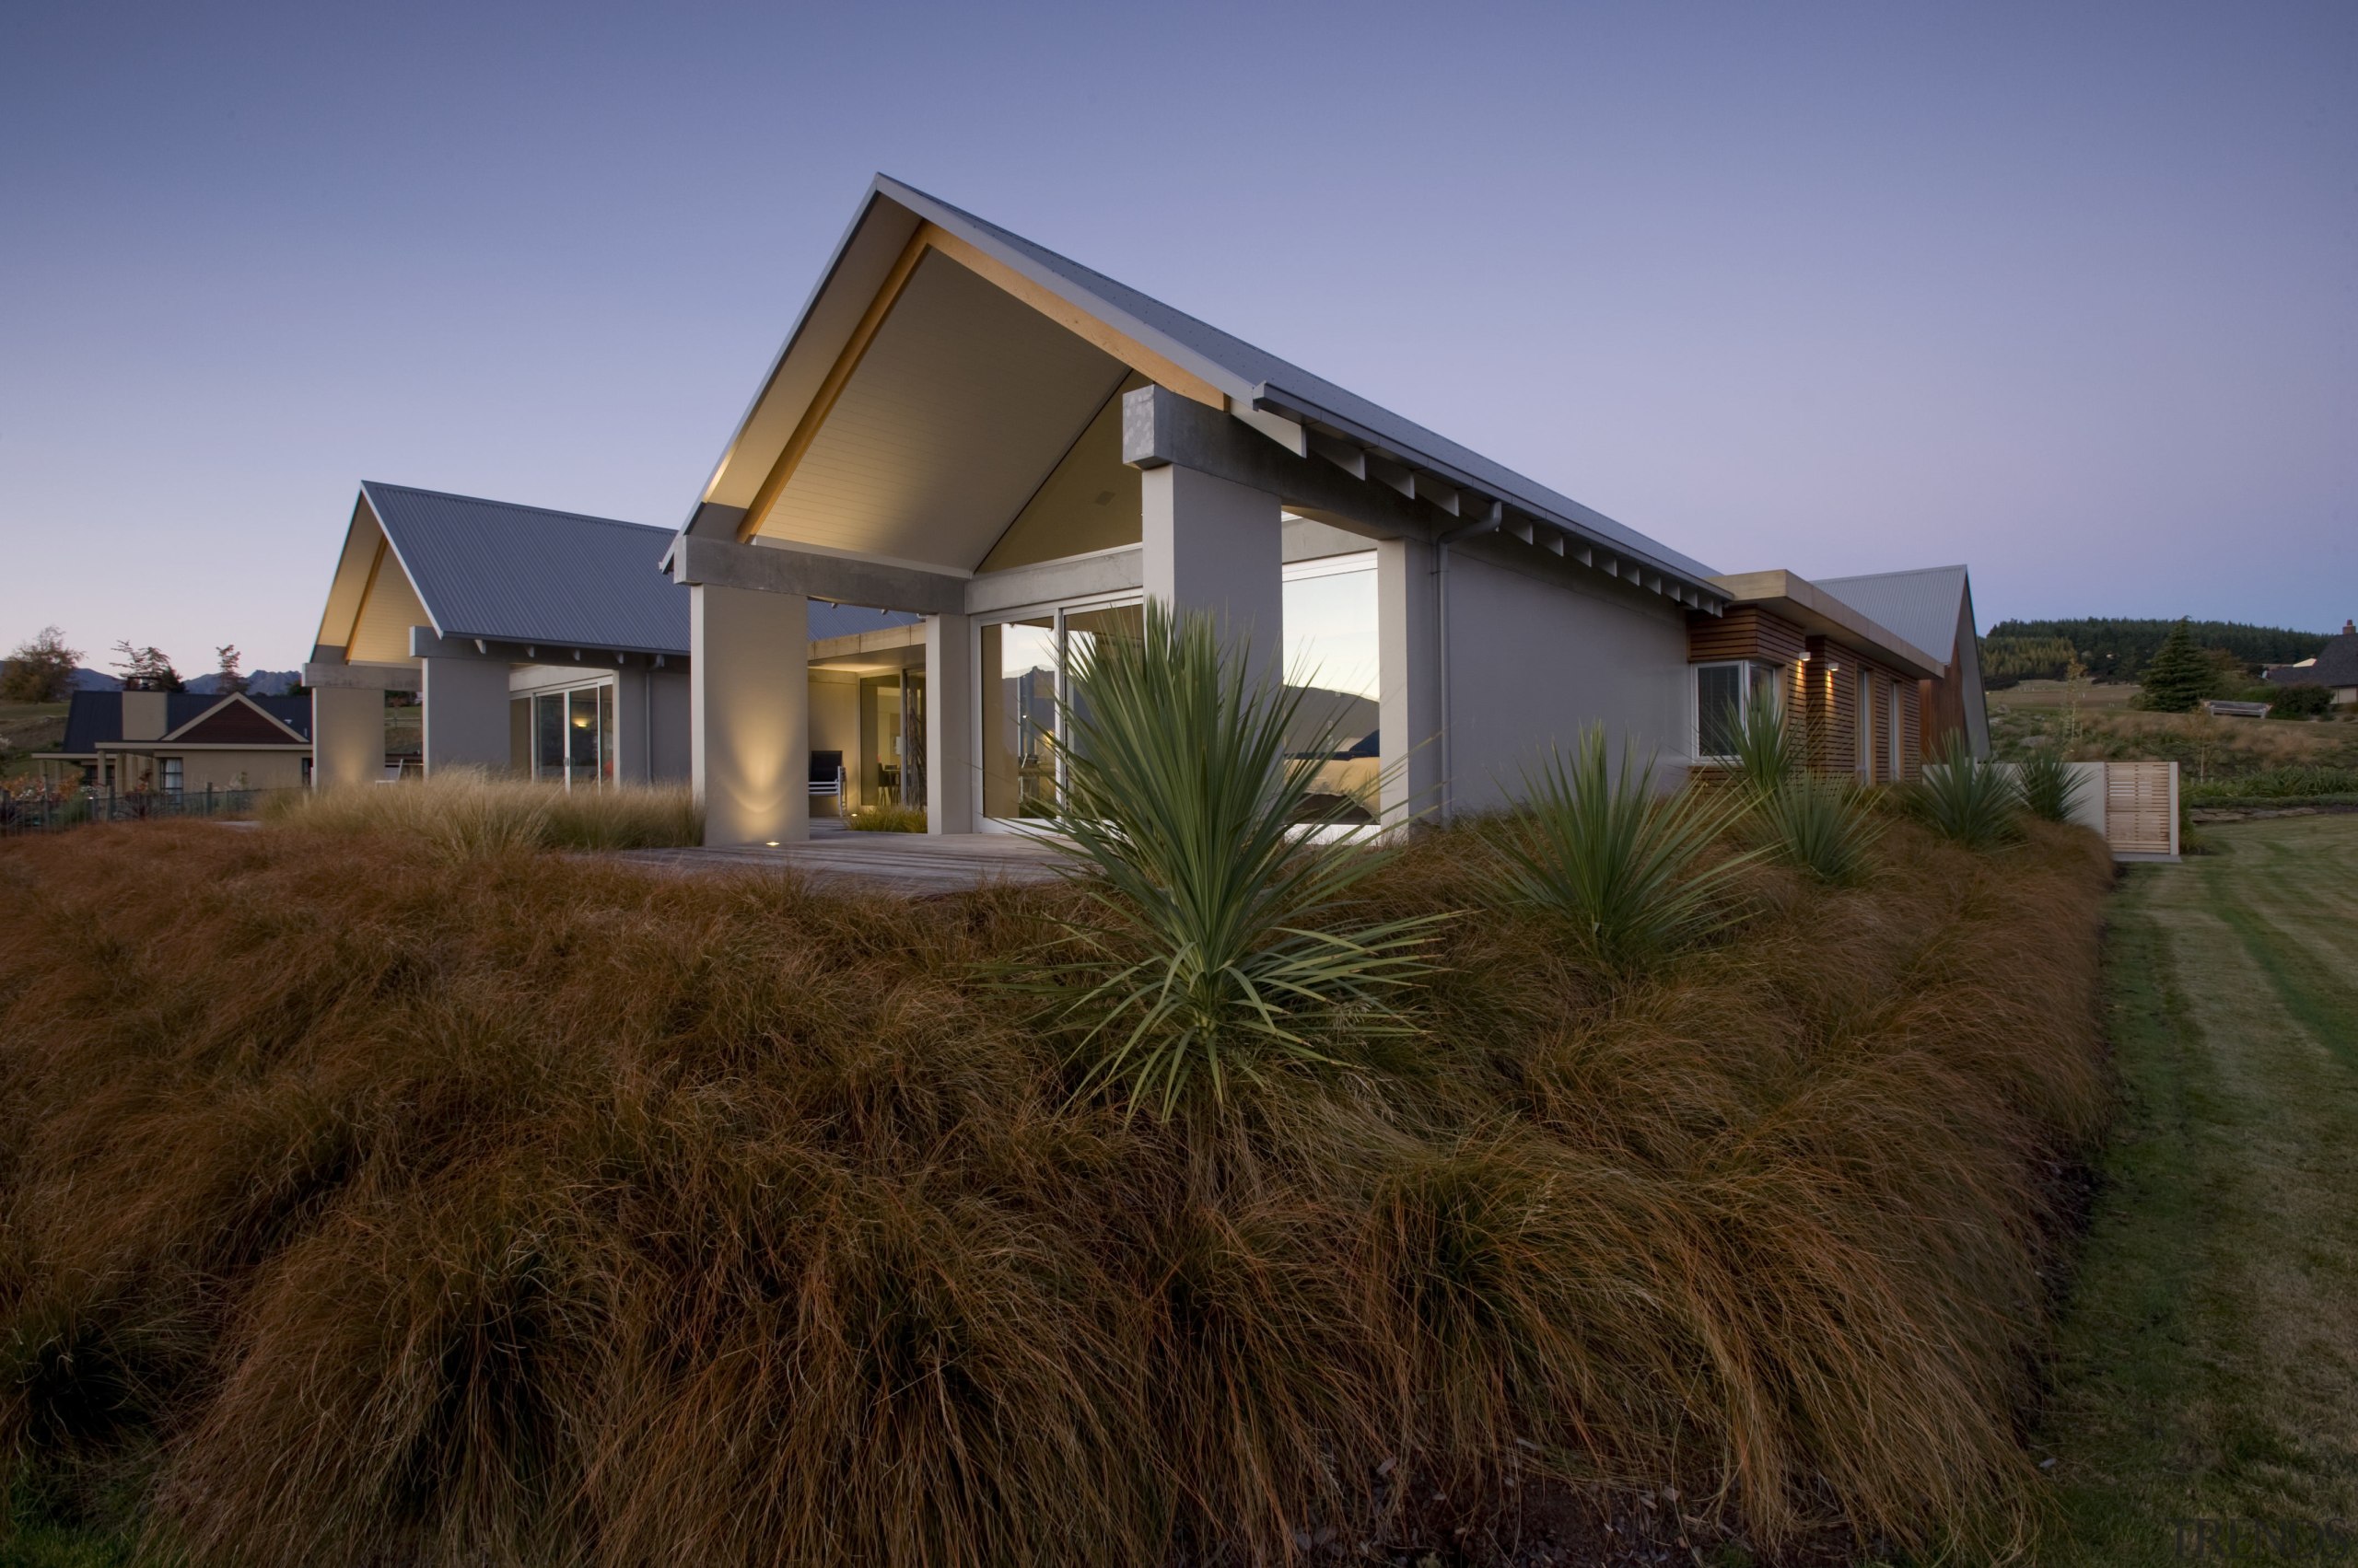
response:
[[[689,750],[705,844],[811,837],[811,601],[689,587]]]

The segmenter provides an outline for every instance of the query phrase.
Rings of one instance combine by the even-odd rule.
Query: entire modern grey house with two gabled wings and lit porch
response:
[[[1158,597],[1309,684],[1330,740],[1290,750],[1405,821],[1587,724],[1674,780],[1754,700],[1823,769],[1985,750],[1964,571],[1912,575],[1721,575],[880,177],[677,535],[363,486],[304,679],[321,780],[377,776],[382,693],[422,689],[429,773],[686,773],[707,842],[759,844],[842,759],[990,832],[1056,790],[1078,648]]]

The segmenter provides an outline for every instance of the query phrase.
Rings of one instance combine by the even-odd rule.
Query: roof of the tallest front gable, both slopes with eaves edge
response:
[[[1502,502],[1516,514],[1568,535],[1575,545],[1587,540],[1613,556],[1625,556],[1627,575],[1634,580],[1644,578],[1636,566],[1646,566],[1655,578],[1669,578],[1681,585],[1691,594],[1691,604],[1710,601],[1717,606],[1717,592],[1710,587],[1714,573],[1693,556],[1679,554],[1535,479],[1516,474],[1266,349],[1257,349],[1186,311],[1172,309],[1151,295],[884,174],[877,174],[870,184],[868,200],[828,262],[828,271],[821,276],[795,330],[778,351],[762,391],[738,422],[684,533],[700,531],[698,523],[707,505],[731,509],[747,505],[747,498],[759,486],[759,474],[766,474],[769,465],[783,450],[799,408],[818,396],[816,368],[792,375],[788,370],[797,347],[806,340],[839,337],[856,330],[851,316],[861,307],[830,299],[830,283],[847,274],[861,274],[847,285],[854,290],[865,288],[868,274],[877,274],[877,281],[882,281],[882,269],[901,250],[901,238],[896,236],[913,233],[922,224],[946,231],[955,243],[979,252],[986,264],[1002,266],[1019,283],[1038,290],[1040,299],[1035,302],[1042,309],[1054,309],[1059,316],[1066,311],[1087,316],[1134,342],[1148,358],[1167,368],[1155,380],[1165,380],[1167,375],[1170,380],[1191,382],[1196,391],[1188,391],[1188,396],[1224,401],[1229,413],[1259,427],[1264,434],[1276,434],[1283,441],[1290,431],[1295,441],[1302,441],[1306,431],[1309,436],[1349,443],[1410,472],[1429,474],[1455,490],[1471,493],[1469,498],[1476,505],[1483,498]],[[828,342],[818,342],[811,354],[821,361],[832,361]],[[795,408],[776,408],[771,406],[773,401],[792,403]],[[1297,446],[1295,450],[1304,448]],[[1615,571],[1622,568],[1615,566]]]

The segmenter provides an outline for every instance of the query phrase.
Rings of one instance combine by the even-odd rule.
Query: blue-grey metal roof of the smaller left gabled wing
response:
[[[443,637],[689,653],[689,589],[656,571],[670,528],[384,481],[361,495]],[[913,620],[811,604],[814,639]]]

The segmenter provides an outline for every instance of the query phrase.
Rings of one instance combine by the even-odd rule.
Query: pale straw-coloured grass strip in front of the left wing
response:
[[[314,832],[391,832],[457,861],[509,849],[672,849],[705,837],[705,813],[684,783],[561,790],[479,769],[288,790],[269,797],[264,821]]]

